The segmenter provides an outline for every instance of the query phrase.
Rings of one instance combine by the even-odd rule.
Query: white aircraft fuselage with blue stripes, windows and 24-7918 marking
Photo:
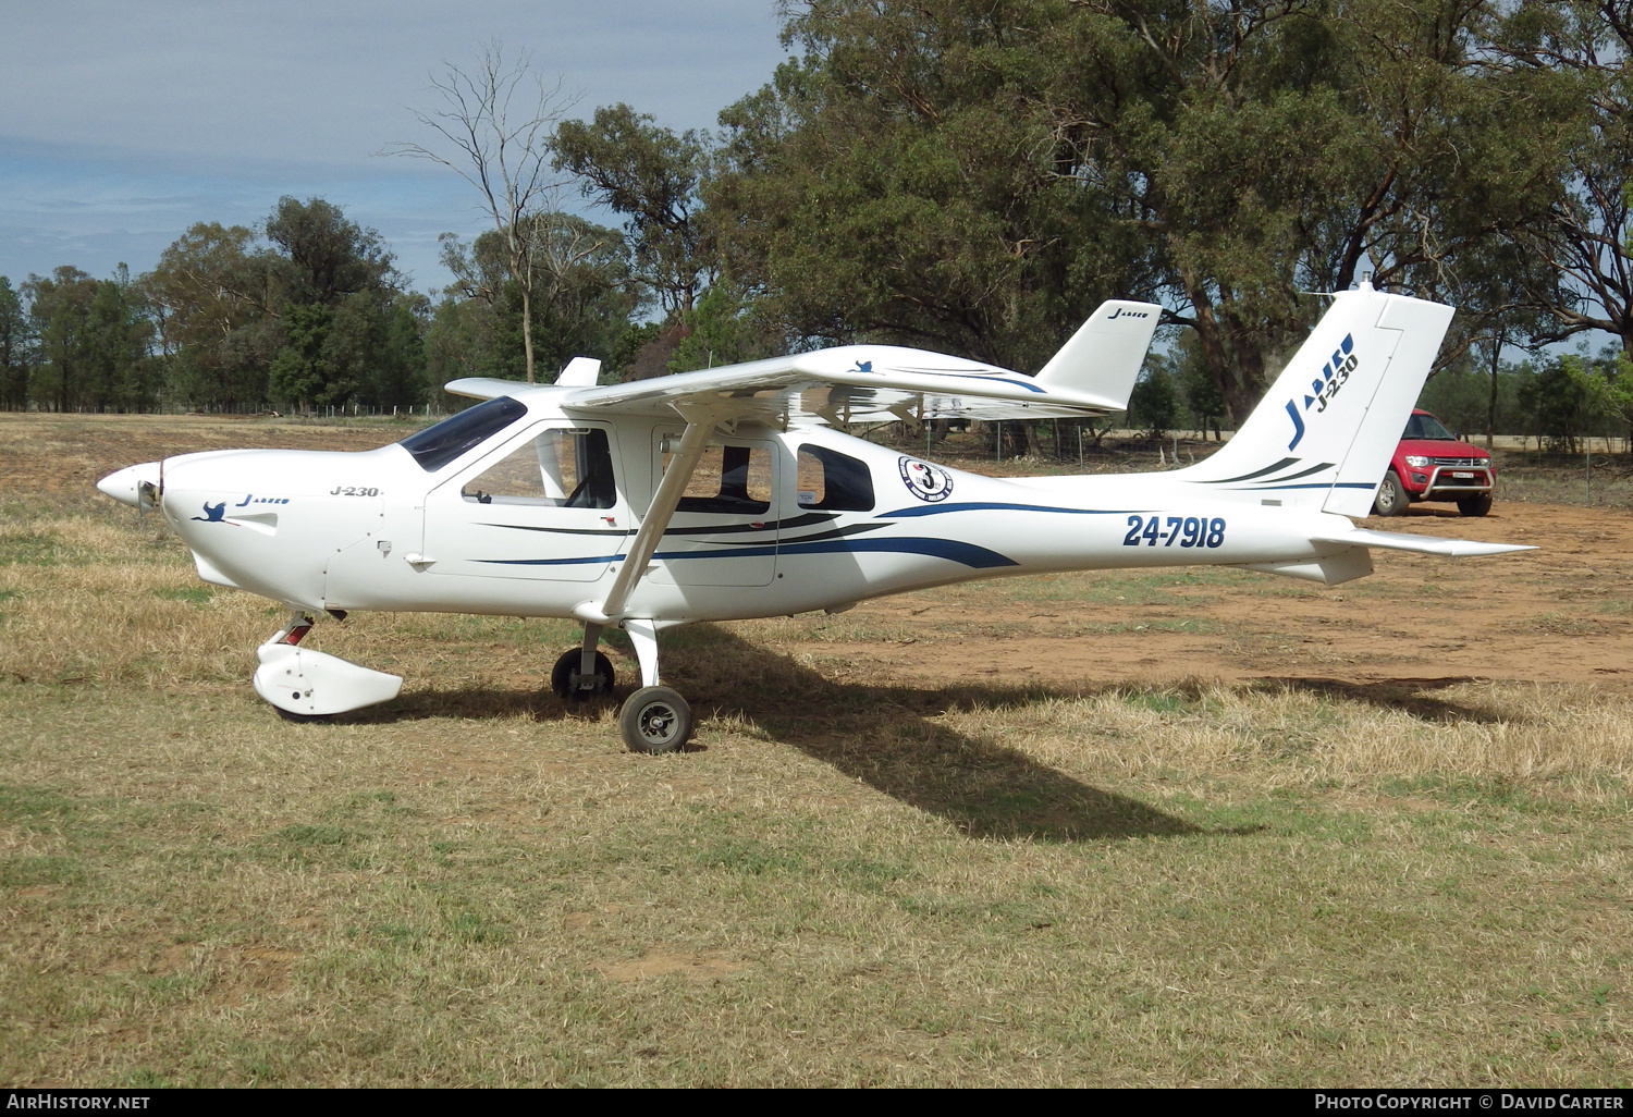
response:
[[[206,581],[296,607],[583,619],[681,429],[534,402],[434,470],[398,444],[189,454],[165,464],[163,513]],[[611,483],[573,500],[541,446],[603,436]],[[710,454],[617,616],[727,621],[1004,575],[1316,560],[1341,547],[1311,536],[1349,526],[1179,474],[994,478],[828,428],[738,426]]]

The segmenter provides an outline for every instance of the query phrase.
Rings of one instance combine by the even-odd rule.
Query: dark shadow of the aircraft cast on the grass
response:
[[[792,656],[751,645],[717,625],[694,625],[671,635],[666,663],[697,696],[699,715],[741,714],[772,740],[946,818],[970,838],[1073,843],[1262,830],[1197,826],[1137,799],[1084,784],[1016,748],[931,720],[954,707],[1003,710],[1076,697],[1076,692],[980,683],[941,689],[834,683]],[[611,643],[617,647],[617,640]],[[621,674],[627,678],[632,666],[634,656],[627,666],[621,665]],[[599,717],[599,709],[591,705],[585,714]],[[341,720],[382,723],[514,715],[583,717],[547,689],[470,689],[407,694],[387,705],[341,715]],[[607,738],[614,746],[611,727]]]

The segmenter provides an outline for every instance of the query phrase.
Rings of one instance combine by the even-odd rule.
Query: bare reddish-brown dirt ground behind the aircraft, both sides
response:
[[[232,446],[369,449],[407,429],[269,418],[0,415],[0,493],[100,501],[91,488],[98,477],[163,454]],[[1319,676],[1633,688],[1626,639],[1633,514],[1512,503],[1499,490],[1483,519],[1460,518],[1450,505],[1422,505],[1368,526],[1538,550],[1466,560],[1375,550],[1370,578],[1331,590],[1210,570],[1030,578],[1001,593],[950,586],[862,603],[843,617],[766,622],[753,637],[813,655],[825,671],[918,684]]]

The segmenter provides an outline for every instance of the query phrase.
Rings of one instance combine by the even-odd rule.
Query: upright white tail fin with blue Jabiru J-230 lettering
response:
[[[1186,480],[1365,516],[1453,309],[1339,294],[1236,436]]]

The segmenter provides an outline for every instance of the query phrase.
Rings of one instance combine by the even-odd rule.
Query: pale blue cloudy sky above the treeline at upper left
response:
[[[142,273],[193,222],[294,194],[377,229],[431,291],[438,234],[492,219],[447,168],[376,152],[429,144],[410,109],[436,108],[444,62],[498,39],[572,114],[627,101],[681,131],[771,78],[777,29],[774,0],[0,0],[0,274]]]

